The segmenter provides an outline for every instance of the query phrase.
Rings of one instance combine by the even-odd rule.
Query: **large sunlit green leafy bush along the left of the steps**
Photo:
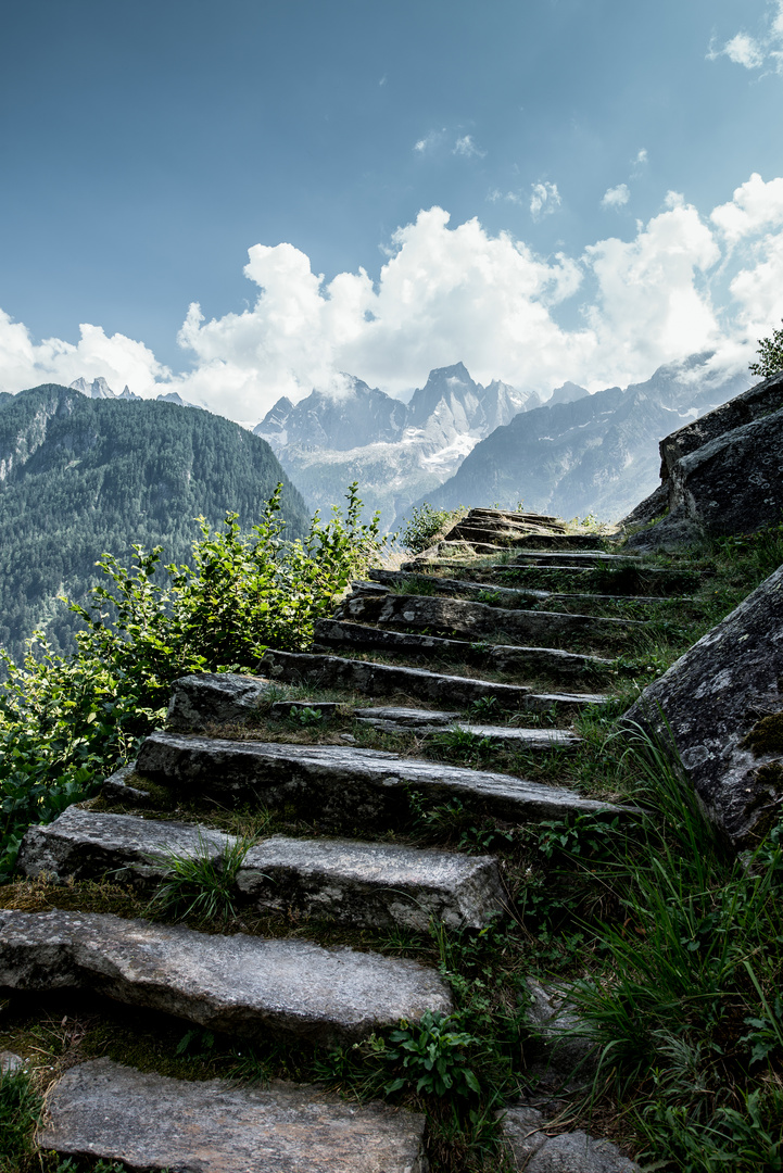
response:
[[[172,680],[253,671],[267,647],[306,647],[315,619],[383,548],[377,514],[361,520],[355,483],[345,517],[338,507],[326,523],[315,514],[295,542],[282,537],[280,494],[250,534],[236,514],[218,531],[199,518],[192,567],[162,567],[161,548],[135,547],[130,570],[104,556],[108,582],[93,605],[72,605],[87,624],[73,656],[40,636],[21,665],[0,651],[0,881],[32,822],[49,822],[132,758],[162,723]]]

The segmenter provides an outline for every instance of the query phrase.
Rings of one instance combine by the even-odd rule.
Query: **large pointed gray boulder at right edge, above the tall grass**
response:
[[[645,689],[624,718],[679,753],[710,819],[736,846],[767,829],[783,796],[782,682],[783,568]]]

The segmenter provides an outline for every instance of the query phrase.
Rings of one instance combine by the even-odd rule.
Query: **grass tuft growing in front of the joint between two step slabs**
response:
[[[170,913],[182,920],[192,915],[227,921],[234,915],[237,873],[252,845],[252,839],[226,839],[216,857],[215,848],[199,832],[192,855],[163,852],[151,856],[151,862],[163,865],[164,879],[149,902],[149,911]]]

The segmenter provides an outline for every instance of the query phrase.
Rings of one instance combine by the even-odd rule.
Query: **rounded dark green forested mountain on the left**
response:
[[[237,423],[175,404],[88,399],[46,384],[0,394],[0,644],[15,659],[33,629],[55,649],[77,626],[56,596],[83,601],[105,552],[131,543],[184,562],[195,517],[227,510],[244,529],[282,481],[287,535],[307,528],[305,503],[270,446]]]

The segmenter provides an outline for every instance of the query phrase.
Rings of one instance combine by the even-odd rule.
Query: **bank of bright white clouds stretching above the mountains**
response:
[[[670,192],[632,239],[580,256],[542,257],[430,208],[394,233],[387,258],[376,279],[360,267],[327,282],[292,244],[253,245],[254,304],[207,321],[193,303],[178,335],[191,369],[181,373],[100,326],[83,325],[75,345],[36,343],[0,311],[0,389],[104,375],[116,389],[178,391],[256,421],[282,394],[339,391],[342,371],[402,393],[462,359],[482,381],[549,393],[568,379],[590,389],[639,381],[706,348],[741,368],[783,317],[783,178],[753,175],[707,215]]]

